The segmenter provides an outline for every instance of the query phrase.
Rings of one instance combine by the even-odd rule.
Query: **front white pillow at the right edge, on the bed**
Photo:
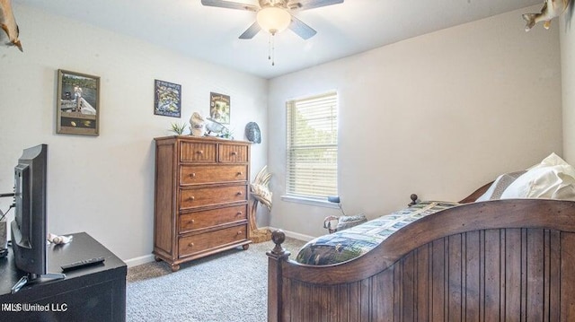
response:
[[[575,200],[575,168],[552,153],[503,191],[501,199],[509,198]]]

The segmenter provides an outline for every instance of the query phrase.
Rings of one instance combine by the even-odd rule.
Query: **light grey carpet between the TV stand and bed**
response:
[[[305,241],[287,238],[290,258]],[[126,318],[132,321],[267,321],[271,241],[193,260],[172,272],[164,262],[128,268]]]

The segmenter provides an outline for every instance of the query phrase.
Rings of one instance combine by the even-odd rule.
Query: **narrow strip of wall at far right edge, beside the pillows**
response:
[[[561,65],[563,100],[563,153],[565,160],[575,164],[575,6],[559,20],[561,28]]]

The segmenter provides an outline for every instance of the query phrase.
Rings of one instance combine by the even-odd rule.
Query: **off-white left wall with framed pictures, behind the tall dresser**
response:
[[[106,30],[15,5],[24,52],[0,48],[0,192],[13,188],[22,148],[49,144],[49,231],[87,231],[119,257],[153,246],[155,136],[192,112],[208,115],[209,92],[231,96],[230,128],[267,131],[267,80],[210,65]],[[190,44],[193,46],[193,44]],[[57,69],[101,77],[100,136],[56,135]],[[182,86],[181,118],[154,115],[154,80]],[[267,163],[267,138],[252,166]],[[255,173],[253,173],[255,174]],[[10,200],[0,200],[7,209]]]

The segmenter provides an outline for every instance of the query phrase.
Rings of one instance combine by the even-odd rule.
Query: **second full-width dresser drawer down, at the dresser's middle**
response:
[[[180,209],[244,201],[247,194],[246,185],[180,189]]]

